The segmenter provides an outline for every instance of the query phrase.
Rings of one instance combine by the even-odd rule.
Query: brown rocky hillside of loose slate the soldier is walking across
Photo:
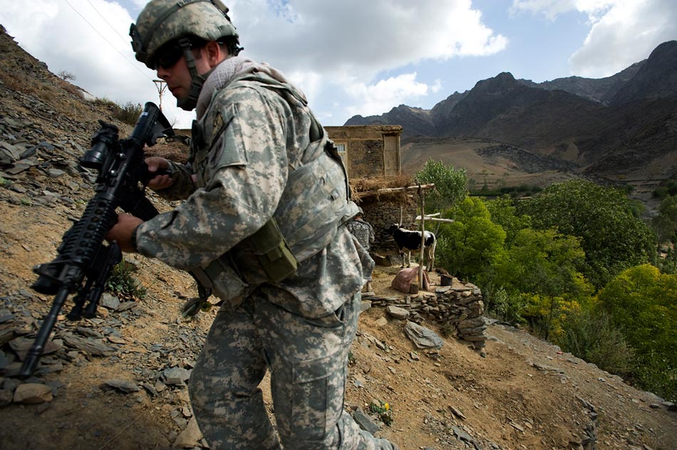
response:
[[[82,100],[4,32],[0,95],[0,447],[209,448],[185,382],[216,308],[182,320],[195,286],[158,261],[128,256],[145,295],[105,294],[95,318],[66,320],[68,300],[35,376],[15,376],[53,300],[31,290],[31,268],[56,256],[93,195],[92,174],[77,157],[99,119],[118,125],[122,137],[131,130],[110,105]],[[499,158],[498,150],[487,148],[487,157]],[[172,207],[150,197],[159,209]],[[431,273],[430,291],[406,295],[391,288],[398,271],[377,268],[373,307],[366,301],[351,348],[346,414],[364,428],[403,450],[677,448],[673,404],[507,324],[489,325],[479,352],[450,324],[423,318],[430,308],[440,312],[430,300],[452,288],[460,298],[472,291],[481,310],[472,286],[442,287]],[[442,347],[417,347],[407,321],[385,305],[418,310]],[[268,378],[261,388],[272,412]],[[371,410],[381,402],[386,417]]]

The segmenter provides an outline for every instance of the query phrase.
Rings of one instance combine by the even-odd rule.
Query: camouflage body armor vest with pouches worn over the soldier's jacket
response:
[[[238,77],[225,89],[239,80],[261,83],[265,88],[292,95],[306,104],[291,85],[259,73]],[[310,153],[319,156],[296,169],[289,168],[286,186],[272,219],[212,261],[203,273],[198,273],[200,282],[212,288],[222,300],[239,296],[247,285],[279,282],[291,276],[300,262],[324,249],[336,236],[338,227],[358,212],[358,206],[350,200],[346,169],[334,143],[312,112],[306,112],[311,117],[310,143],[306,150],[316,150]],[[191,159],[198,187],[204,187],[208,181],[202,177],[212,157],[210,144],[218,139],[211,133],[220,132],[218,126],[210,123],[213,120],[210,117],[207,110],[202,120],[193,125]]]

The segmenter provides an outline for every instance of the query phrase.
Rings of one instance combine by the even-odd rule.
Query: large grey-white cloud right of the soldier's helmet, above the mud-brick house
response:
[[[351,103],[344,110],[362,115],[440,88],[439,83],[414,82],[410,75],[379,81],[381,73],[423,60],[487,56],[507,46],[505,36],[482,23],[470,0],[239,0],[232,4],[231,16],[243,54],[289,72],[311,104],[316,95],[340,90],[345,92],[343,105]],[[299,79],[292,71],[313,75]],[[304,84],[309,79],[310,86]],[[395,85],[396,92],[384,92],[384,86]],[[358,91],[366,98],[356,96]],[[321,117],[330,114],[319,112]]]

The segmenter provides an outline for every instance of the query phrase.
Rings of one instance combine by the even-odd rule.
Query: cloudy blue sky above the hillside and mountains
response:
[[[194,112],[135,60],[145,0],[0,0],[0,24],[52,73],[120,105]],[[603,78],[677,39],[675,0],[224,0],[244,51],[301,88],[323,125],[398,105],[430,109],[510,72],[540,83]]]

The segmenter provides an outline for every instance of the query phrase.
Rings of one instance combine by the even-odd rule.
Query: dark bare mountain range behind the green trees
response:
[[[351,117],[346,125],[372,123],[403,127],[409,172],[420,169],[428,155],[447,155],[446,162],[464,167],[467,159],[452,155],[453,140],[465,140],[464,149],[467,140],[477,140],[477,149],[491,143],[560,158],[574,164],[569,177],[630,183],[647,199],[651,189],[677,177],[677,41],[662,43],[646,60],[610,77],[533,83],[504,72],[431,110],[400,105],[383,115]],[[431,150],[435,140],[438,148]],[[486,172],[482,164],[467,168],[471,174]],[[525,173],[518,162],[507,161],[495,167],[507,174],[502,182],[510,183],[510,168]],[[552,170],[561,169],[542,167]],[[495,174],[494,181],[500,177]]]

